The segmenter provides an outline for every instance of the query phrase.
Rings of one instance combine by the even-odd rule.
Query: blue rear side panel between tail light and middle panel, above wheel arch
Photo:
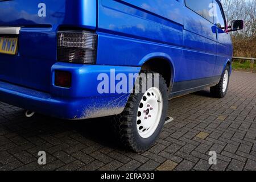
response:
[[[183,8],[176,0],[98,1],[97,64],[141,66],[145,56],[163,53],[179,69]]]

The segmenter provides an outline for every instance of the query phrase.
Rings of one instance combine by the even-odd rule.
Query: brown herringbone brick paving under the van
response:
[[[117,144],[109,119],[70,122],[0,102],[0,170],[256,170],[256,74],[233,72],[220,100],[204,90],[170,101],[168,123],[143,154]],[[37,163],[47,152],[47,165]],[[217,152],[217,165],[208,163]]]

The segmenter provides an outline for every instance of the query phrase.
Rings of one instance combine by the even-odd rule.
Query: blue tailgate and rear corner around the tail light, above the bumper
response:
[[[0,80],[49,92],[57,30],[96,28],[96,7],[90,0],[0,1],[0,39],[18,41],[15,53],[0,51]],[[6,27],[9,32],[3,31]],[[13,34],[11,27],[20,30]],[[9,47],[2,44],[0,49]]]

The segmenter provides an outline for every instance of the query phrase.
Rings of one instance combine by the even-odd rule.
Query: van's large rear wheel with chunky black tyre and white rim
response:
[[[155,75],[155,72],[143,72]],[[167,115],[168,91],[166,81],[158,75],[159,84],[152,86],[145,93],[134,93],[126,104],[125,110],[114,118],[114,128],[121,142],[135,152],[143,152],[158,138]],[[142,87],[142,83],[139,86]]]

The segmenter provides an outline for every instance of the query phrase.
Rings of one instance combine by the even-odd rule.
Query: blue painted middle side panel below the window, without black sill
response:
[[[184,70],[186,80],[212,77],[216,63],[216,30],[213,23],[185,8]]]

